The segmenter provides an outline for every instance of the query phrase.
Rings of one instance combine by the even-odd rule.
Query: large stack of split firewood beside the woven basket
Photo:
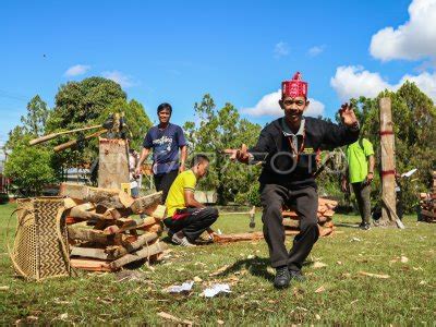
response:
[[[166,245],[159,235],[166,207],[159,205],[161,192],[133,198],[119,190],[64,183],[61,195],[68,208],[72,267],[116,271],[162,255]]]

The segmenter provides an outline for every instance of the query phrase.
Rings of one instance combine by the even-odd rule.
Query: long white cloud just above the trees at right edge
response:
[[[436,72],[423,72],[419,75],[404,75],[397,84],[389,84],[378,73],[362,66],[339,66],[330,78],[330,85],[342,101],[350,98],[376,97],[382,90],[398,89],[405,81],[414,82],[428,97],[436,101]]]

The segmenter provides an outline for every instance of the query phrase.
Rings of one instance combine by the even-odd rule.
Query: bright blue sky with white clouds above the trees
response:
[[[435,22],[436,0],[2,1],[0,143],[31,97],[51,107],[61,84],[93,75],[121,81],[152,120],[172,104],[179,124],[205,93],[264,124],[298,70],[313,114],[404,78],[435,99]]]

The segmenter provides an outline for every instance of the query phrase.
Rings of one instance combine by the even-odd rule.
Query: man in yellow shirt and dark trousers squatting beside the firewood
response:
[[[217,220],[218,210],[205,207],[194,197],[197,181],[206,175],[208,166],[207,156],[196,155],[191,169],[180,173],[168,192],[168,218],[164,223],[169,228],[168,235],[174,244],[195,246],[195,240],[204,231],[214,234],[210,226]]]

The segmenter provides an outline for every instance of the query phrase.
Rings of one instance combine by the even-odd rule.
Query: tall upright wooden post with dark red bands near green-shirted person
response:
[[[380,225],[395,225],[396,216],[396,192],[395,192],[395,136],[392,128],[392,109],[390,98],[382,98],[380,108],[380,146],[382,146],[382,197],[383,203]],[[393,211],[390,213],[391,209]]]

